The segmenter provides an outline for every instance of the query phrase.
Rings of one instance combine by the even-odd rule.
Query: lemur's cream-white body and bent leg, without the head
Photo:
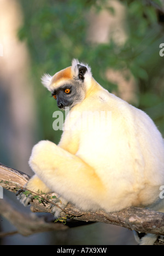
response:
[[[31,167],[48,187],[85,210],[99,205],[99,208],[110,212],[131,205],[152,204],[159,198],[160,185],[164,184],[162,136],[147,114],[105,93],[109,97],[106,108],[112,110],[110,133],[100,133],[96,127],[80,133],[77,130],[65,131],[61,145],[69,145],[79,136],[77,153],[72,155],[49,141],[40,142],[33,149]],[[88,107],[90,110],[103,109],[101,101],[95,103],[96,100],[87,102],[86,99],[81,104],[84,106],[77,105],[74,110],[80,112],[81,108],[87,110]],[[79,124],[79,118],[72,114],[71,124]],[[86,181],[91,178],[90,172],[84,173],[83,178],[78,172],[78,169],[86,168],[85,165],[89,165],[104,184],[104,196],[101,193],[97,195],[97,191],[89,193]],[[56,172],[52,174],[51,170]]]

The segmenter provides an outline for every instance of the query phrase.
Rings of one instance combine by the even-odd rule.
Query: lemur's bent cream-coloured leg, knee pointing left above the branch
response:
[[[51,191],[84,210],[96,208],[103,197],[104,185],[95,170],[50,141],[40,141],[33,147],[29,164]]]

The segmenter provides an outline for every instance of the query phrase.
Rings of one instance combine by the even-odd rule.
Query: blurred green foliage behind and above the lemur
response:
[[[93,44],[87,40],[87,17],[95,8],[115,15],[110,0],[19,0],[24,11],[24,26],[19,38],[26,40],[31,54],[31,75],[36,84],[40,137],[58,142],[61,132],[52,130],[52,113],[57,109],[40,84],[44,73],[51,75],[71,66],[73,58],[89,63],[93,77],[112,91],[116,85],[105,75],[107,68],[120,72],[130,69],[139,86],[139,105],[154,119],[164,134],[163,61],[159,45],[164,43],[164,30],[156,9],[147,1],[120,1],[126,7],[128,39],[119,45],[112,37],[108,43]],[[159,0],[155,3],[160,5]]]

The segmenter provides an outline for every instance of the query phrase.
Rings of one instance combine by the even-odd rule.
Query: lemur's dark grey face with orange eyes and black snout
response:
[[[84,100],[85,91],[83,85],[79,82],[63,84],[60,88],[52,92],[52,96],[57,100],[57,107],[73,107],[75,104]]]

